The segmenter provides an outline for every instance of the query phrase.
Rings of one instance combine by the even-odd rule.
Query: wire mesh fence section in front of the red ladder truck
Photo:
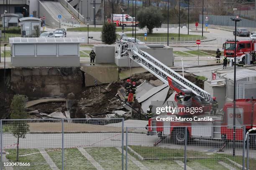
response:
[[[233,127],[228,126],[147,128],[126,127],[126,170],[253,170],[256,167],[256,134],[247,135],[252,140],[246,141],[245,126],[235,127],[235,141]]]

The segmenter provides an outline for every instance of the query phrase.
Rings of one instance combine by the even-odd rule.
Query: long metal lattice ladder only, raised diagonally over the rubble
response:
[[[200,87],[190,82],[186,78],[179,75],[174,70],[170,69],[156,58],[144,52],[133,44],[129,44],[127,48],[128,56],[141,65],[143,68],[151,72],[153,75],[158,77],[166,85],[169,85],[167,78],[172,79],[172,83],[179,89],[191,90],[195,95],[197,95],[201,101],[210,102],[212,101],[211,95],[202,90]]]

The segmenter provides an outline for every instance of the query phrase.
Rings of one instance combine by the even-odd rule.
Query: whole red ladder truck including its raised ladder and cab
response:
[[[174,98],[177,101],[177,107],[202,108],[202,112],[198,111],[194,112],[194,114],[183,110],[175,114],[167,113],[166,115],[152,117],[148,120],[147,135],[158,135],[160,138],[159,142],[161,142],[161,139],[170,136],[174,143],[184,144],[185,134],[182,128],[187,126],[188,140],[195,138],[225,140],[225,144],[233,140],[233,102],[224,105],[221,120],[216,119],[216,117],[207,121],[195,120],[195,117],[208,116],[211,110],[212,97],[208,92],[182,77],[159,60],[156,60],[147,52],[140,50],[136,47],[136,44],[123,43],[119,46],[121,49],[120,55],[127,54],[131,60],[141,65],[177,92]],[[182,96],[180,96],[181,94]],[[182,102],[179,101],[180,97],[183,98]],[[162,118],[162,120],[157,120],[157,117]],[[164,118],[167,117],[192,118],[192,121],[164,121]],[[256,133],[256,99],[236,100],[236,122],[236,126],[239,127],[236,128],[235,140],[243,141],[243,125],[246,125],[246,135]],[[164,126],[171,128],[164,128]],[[253,146],[256,143],[255,136],[253,135],[253,138],[250,139],[250,143],[253,143]],[[154,145],[157,145],[157,143]]]

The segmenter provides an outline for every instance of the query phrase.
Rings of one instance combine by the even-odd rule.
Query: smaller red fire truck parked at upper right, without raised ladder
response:
[[[256,40],[239,40],[236,41],[236,57],[237,61],[243,61],[245,63],[245,55],[246,53],[250,53],[252,51],[256,51]],[[227,40],[223,44],[224,56],[232,59],[235,53],[235,41]],[[252,60],[251,60],[252,61]]]

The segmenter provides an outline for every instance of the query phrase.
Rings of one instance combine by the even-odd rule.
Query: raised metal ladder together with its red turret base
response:
[[[136,44],[131,43],[122,46],[131,60],[151,72],[176,92],[184,95],[184,101],[179,103],[178,107],[182,105],[184,107],[203,107],[203,112],[198,113],[198,115],[210,111],[212,97],[208,92],[182,77],[147,52],[140,50],[136,47]],[[177,99],[177,97],[179,98],[178,94],[176,94],[175,98]],[[183,112],[179,113],[179,115],[188,115],[188,113]]]

